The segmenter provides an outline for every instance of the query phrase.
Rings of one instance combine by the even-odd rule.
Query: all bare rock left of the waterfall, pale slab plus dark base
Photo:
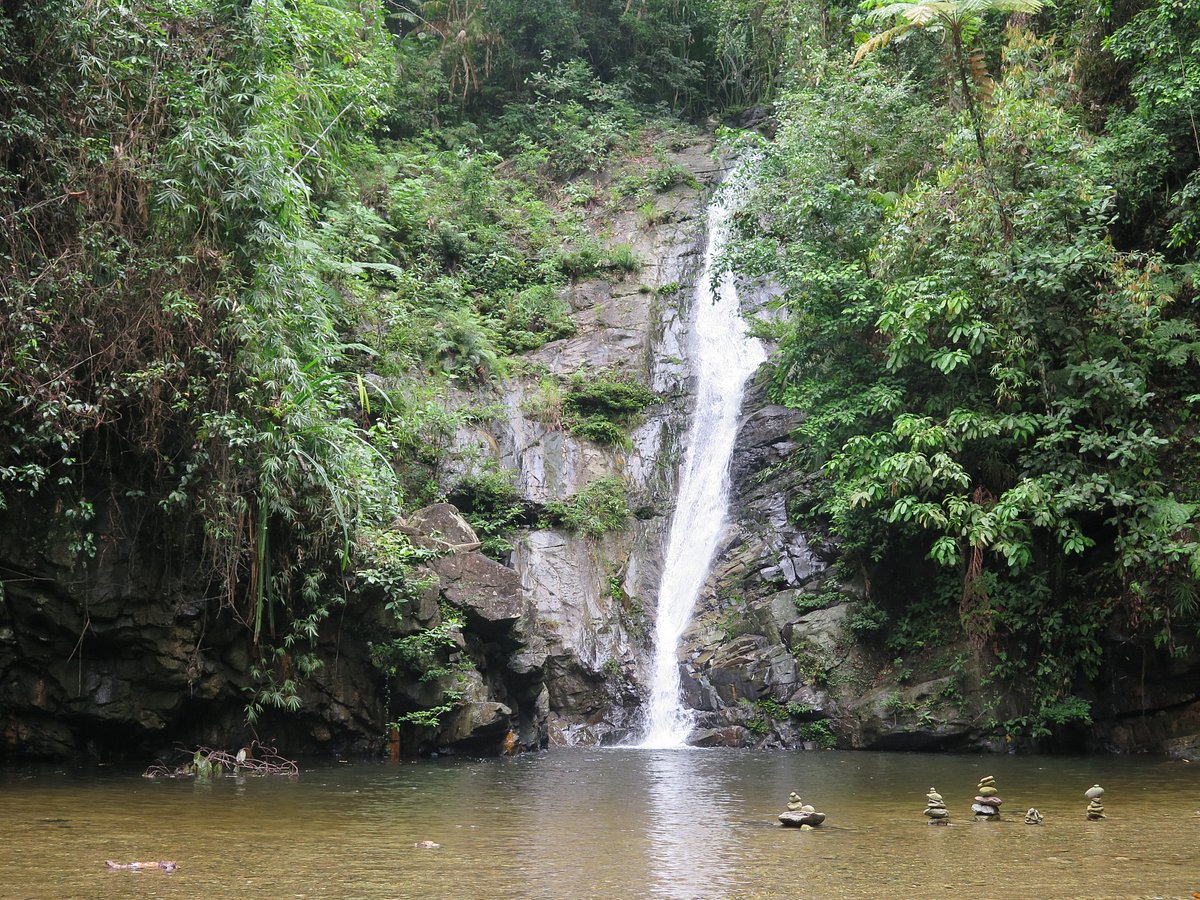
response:
[[[185,529],[131,527],[156,521],[152,510],[113,499],[108,509],[97,504],[100,551],[88,558],[54,533],[55,516],[8,509],[0,528],[0,756],[144,761],[176,744],[233,746],[256,736],[290,755],[378,754],[389,742],[406,754],[497,752],[631,733],[686,427],[688,302],[704,202],[720,174],[710,150],[697,142],[673,155],[696,180],[656,194],[653,215],[642,208],[596,223],[642,266],[572,286],[576,335],[528,354],[529,374],[499,394],[505,414],[460,436],[476,464],[515,472],[533,508],[619,478],[634,510],[626,527],[600,538],[535,528],[502,565],[479,552],[452,506],[420,510],[397,527],[443,554],[427,564],[425,588],[397,616],[378,588],[350,586],[306,654],[316,668],[299,672],[292,654],[272,664],[276,684],[294,679],[299,709],[259,703],[251,728],[246,707],[263,666],[252,616],[245,601],[230,604],[197,581],[204,560],[182,544]],[[529,412],[539,378],[601,370],[655,392],[628,448],[596,446]],[[442,628],[446,617],[461,628]],[[403,659],[406,640],[422,634],[450,641],[425,661],[433,670],[425,678]],[[446,712],[437,725],[422,725],[419,713],[438,707]],[[406,716],[389,734],[386,722]]]

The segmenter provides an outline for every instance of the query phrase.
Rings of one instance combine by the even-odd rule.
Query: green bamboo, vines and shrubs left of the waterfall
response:
[[[589,217],[686,178],[670,109],[738,90],[722,8],[5,4],[0,510],[61,509],[82,566],[126,520],[192,539],[254,648],[251,721],[298,706],[348,602],[396,613],[380,671],[439,671],[454,614],[410,632],[427,553],[396,522],[456,490],[511,550],[508,475],[445,476],[492,414],[463,397],[574,332],[572,278],[638,268]],[[652,397],[583,383],[547,415],[625,440]],[[626,514],[608,481],[546,511],[588,534]]]

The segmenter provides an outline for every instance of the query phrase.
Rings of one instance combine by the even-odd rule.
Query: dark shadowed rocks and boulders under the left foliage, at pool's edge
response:
[[[448,688],[462,697],[454,713],[438,728],[406,730],[403,750],[491,751],[510,732],[512,743],[545,743],[544,668],[523,655],[524,592],[511,569],[475,550],[452,508],[403,526],[446,553],[428,564],[416,601],[397,617],[382,598],[352,595],[319,635],[319,665],[296,679],[299,712],[265,704],[254,727],[245,724],[257,659],[245,610],[196,582],[197,556],[169,544],[168,530],[126,532],[128,512],[100,511],[94,558],[67,552],[67,536],[53,532],[0,540],[0,756],[148,761],[176,744],[256,737],[290,755],[374,754],[406,700],[434,706]],[[385,678],[372,646],[437,628],[442,604],[464,618],[445,680]],[[281,677],[293,665],[286,658]]]

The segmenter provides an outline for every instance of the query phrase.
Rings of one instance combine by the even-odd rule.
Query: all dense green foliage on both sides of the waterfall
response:
[[[733,262],[785,289],[773,390],[826,474],[793,515],[864,576],[854,634],[968,638],[1033,733],[1087,716],[1109,637],[1195,649],[1183,0],[10,0],[0,509],[61,510],[82,565],[120,510],[194,535],[251,719],[364,598],[382,672],[452,677],[457,614],[402,622],[406,512],[450,491],[498,558],[538,515],[629,516],[611,479],[544,510],[448,484],[493,412],[464,392],[574,332],[571,280],[648,262],[595,235],[689,178],[672,116],[764,98]],[[624,446],[653,402],[581,372],[526,412]]]

